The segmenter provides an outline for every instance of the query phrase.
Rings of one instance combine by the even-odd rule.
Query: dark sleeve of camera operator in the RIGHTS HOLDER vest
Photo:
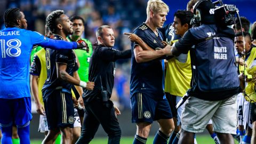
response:
[[[177,51],[180,53],[188,53],[191,47],[195,44],[196,38],[191,34],[190,30],[188,30],[185,35],[179,39],[178,42],[175,43],[175,47]]]

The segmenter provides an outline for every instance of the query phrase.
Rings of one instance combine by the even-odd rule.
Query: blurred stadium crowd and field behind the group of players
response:
[[[186,9],[188,0],[174,1],[164,0],[170,7],[166,23],[173,21],[173,14],[177,10]],[[225,4],[235,4],[241,16],[248,18],[251,23],[256,20],[255,0],[223,0]],[[123,35],[124,32],[132,32],[133,29],[146,20],[146,0],[1,0],[0,1],[0,26],[4,28],[3,15],[9,7],[19,7],[26,15],[28,29],[44,34],[45,18],[53,10],[64,10],[70,17],[77,14],[85,19],[84,38],[95,43],[95,30],[101,25],[109,25],[115,31],[115,48],[117,50],[131,49],[129,39]],[[136,127],[131,124],[130,106],[130,60],[119,60],[116,62],[115,86],[112,100],[121,109],[122,115],[118,116],[122,128],[122,135],[133,139]],[[34,104],[34,102],[32,102]],[[43,133],[37,132],[39,116],[33,105],[33,120],[31,121],[31,139],[42,139]],[[150,135],[153,136],[158,125],[155,123]],[[207,134],[207,133],[204,133]],[[107,137],[100,127],[95,137]],[[210,135],[205,137],[210,139]],[[199,135],[198,143],[207,143],[204,136]],[[107,141],[107,139],[103,139]],[[121,141],[122,142],[122,141]],[[131,141],[132,142],[132,141]],[[131,143],[128,142],[128,143]],[[37,143],[37,142],[36,142]],[[101,143],[101,142],[100,142]],[[125,143],[125,142],[122,142]],[[150,142],[149,142],[150,143]]]

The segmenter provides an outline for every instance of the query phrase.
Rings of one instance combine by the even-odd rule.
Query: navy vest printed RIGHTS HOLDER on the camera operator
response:
[[[228,29],[229,30],[229,29]],[[217,33],[217,26],[202,25],[190,29],[198,40],[190,50],[191,90],[218,92],[239,87],[231,36]]]

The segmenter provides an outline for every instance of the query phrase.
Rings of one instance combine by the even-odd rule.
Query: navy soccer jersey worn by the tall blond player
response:
[[[134,34],[138,35],[148,46],[153,49],[164,48],[161,43],[163,35],[157,30],[157,35],[151,30],[146,23],[142,23],[137,27]],[[137,43],[132,43],[132,50],[138,45]],[[131,95],[136,92],[141,93],[151,93],[155,97],[163,98],[163,66],[161,59],[155,59],[148,62],[137,63],[134,57],[134,52],[132,52],[132,68],[131,68],[131,82],[130,89]]]

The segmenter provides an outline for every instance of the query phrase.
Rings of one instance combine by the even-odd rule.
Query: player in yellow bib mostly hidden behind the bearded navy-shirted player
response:
[[[45,32],[46,35],[50,34],[50,30],[47,26],[45,27],[45,31],[46,31]],[[51,36],[51,37],[54,38],[54,36]],[[45,137],[46,137],[49,130],[47,125],[47,118],[45,115],[43,95],[42,95],[42,88],[47,77],[45,49],[41,49],[35,53],[33,58],[33,63],[31,64],[31,67],[30,67],[30,75],[31,75],[30,76],[31,91],[35,99],[37,113],[40,114],[38,131],[45,132]],[[74,75],[78,75],[77,71],[74,72]],[[80,91],[82,91],[80,93],[82,98],[83,90],[82,90],[82,87],[77,87],[77,89],[79,88],[81,89]],[[74,92],[72,93],[72,96],[73,96],[73,99],[76,99]],[[74,138],[73,143],[77,141],[77,139],[81,134],[81,121],[79,119],[77,109],[74,109],[74,113],[75,113],[74,115],[75,122],[74,122],[74,129],[73,129],[73,138]],[[55,143],[60,143],[60,138],[61,138],[61,135],[59,134],[57,139],[55,140]]]

